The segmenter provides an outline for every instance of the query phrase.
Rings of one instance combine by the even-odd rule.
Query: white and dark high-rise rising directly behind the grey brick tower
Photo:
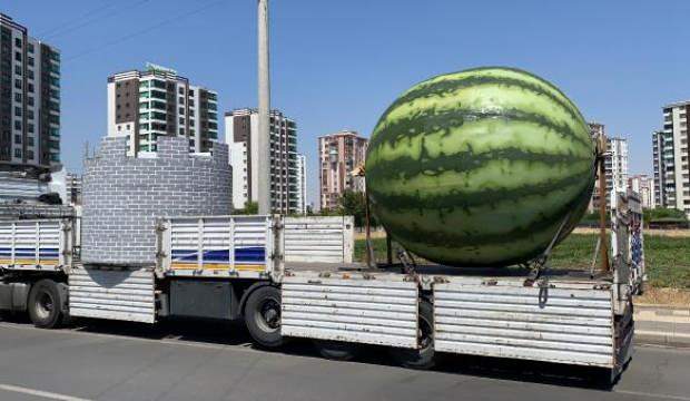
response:
[[[156,151],[161,135],[187,137],[190,151],[208,151],[218,139],[217,92],[169,68],[146,67],[108,77],[108,136],[127,137],[130,155]]]

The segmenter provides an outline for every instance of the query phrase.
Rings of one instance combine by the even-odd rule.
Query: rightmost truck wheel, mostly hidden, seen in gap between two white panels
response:
[[[420,302],[420,349],[392,349],[393,358],[405,368],[431,369],[434,355],[434,307],[428,301]]]

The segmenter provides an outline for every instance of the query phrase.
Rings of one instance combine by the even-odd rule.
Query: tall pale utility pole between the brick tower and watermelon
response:
[[[258,213],[268,215],[270,205],[270,78],[268,70],[268,0],[258,4]]]

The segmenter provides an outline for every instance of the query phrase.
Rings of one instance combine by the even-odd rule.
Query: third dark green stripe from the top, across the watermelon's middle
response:
[[[367,170],[367,174],[374,179],[407,179],[420,174],[425,176],[437,176],[448,170],[472,173],[472,170],[481,168],[487,163],[496,159],[528,160],[530,163],[544,163],[548,165],[570,165],[589,162],[591,159],[591,157],[579,157],[573,155],[525,151],[515,147],[494,149],[482,154],[474,153],[471,146],[469,146],[469,148],[470,149],[466,151],[452,155],[430,157],[426,148],[422,146],[422,154],[418,158],[401,156],[393,160],[386,160],[385,168],[376,168],[376,164],[374,164],[372,168]]]

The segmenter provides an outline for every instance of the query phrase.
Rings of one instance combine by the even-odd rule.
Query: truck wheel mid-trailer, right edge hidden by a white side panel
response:
[[[269,285],[255,290],[247,299],[245,324],[254,341],[262,346],[283,345],[280,305],[280,290]]]

